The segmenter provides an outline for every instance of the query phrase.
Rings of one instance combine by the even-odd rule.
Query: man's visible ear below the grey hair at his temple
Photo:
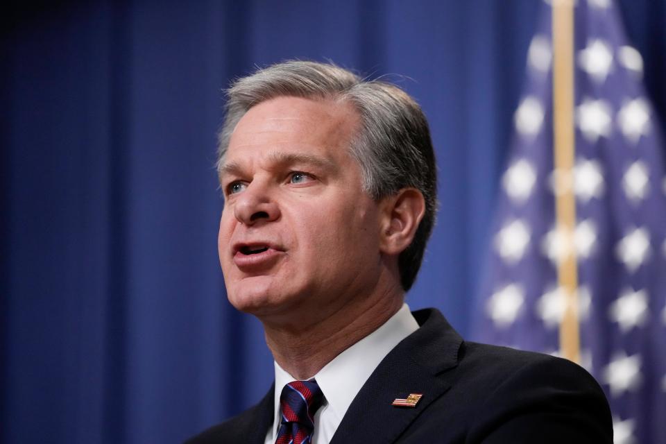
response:
[[[425,199],[416,188],[403,188],[382,199],[379,250],[386,255],[399,255],[416,234],[425,214]]]

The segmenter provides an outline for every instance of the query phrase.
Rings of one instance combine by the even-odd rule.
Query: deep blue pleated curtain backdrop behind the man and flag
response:
[[[620,3],[666,116],[666,6]],[[272,380],[228,302],[221,88],[255,65],[388,75],[432,126],[441,210],[413,308],[462,333],[537,0],[15,3],[2,26],[0,441],[169,443]],[[398,76],[399,75],[399,76]],[[360,255],[361,253],[359,253]]]

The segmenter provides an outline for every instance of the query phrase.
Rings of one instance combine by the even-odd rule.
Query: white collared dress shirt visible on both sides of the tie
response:
[[[368,377],[395,345],[416,330],[418,323],[407,304],[403,304],[398,313],[381,327],[336,356],[314,375],[325,402],[314,416],[313,444],[327,444],[331,441],[352,400]],[[275,443],[280,425],[280,393],[285,385],[294,380],[295,377],[275,362],[273,425],[268,427],[265,444]]]

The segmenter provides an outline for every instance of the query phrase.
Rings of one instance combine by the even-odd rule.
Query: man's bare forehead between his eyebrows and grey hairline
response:
[[[225,160],[248,151],[285,147],[339,151],[349,147],[358,123],[356,110],[345,101],[277,97],[253,106],[240,119]]]

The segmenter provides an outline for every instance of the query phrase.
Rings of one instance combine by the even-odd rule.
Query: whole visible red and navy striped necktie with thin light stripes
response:
[[[309,444],[314,430],[314,413],[321,407],[324,395],[311,381],[293,381],[282,388],[280,410],[282,421],[275,444]]]

